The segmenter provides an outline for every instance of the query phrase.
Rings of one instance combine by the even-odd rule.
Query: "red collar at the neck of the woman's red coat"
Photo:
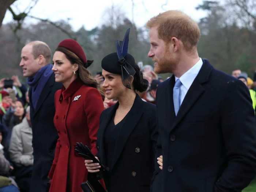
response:
[[[83,82],[79,79],[76,78],[69,86],[67,89],[63,86],[61,89],[61,94],[59,101],[62,101],[63,99],[67,99],[69,97],[72,97],[72,95],[83,85]]]

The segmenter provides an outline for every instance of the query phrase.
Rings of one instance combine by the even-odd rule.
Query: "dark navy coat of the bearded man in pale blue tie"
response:
[[[157,155],[163,155],[163,170],[155,172],[152,191],[241,191],[256,172],[248,88],[203,60],[176,117],[174,83],[172,76],[157,90]]]

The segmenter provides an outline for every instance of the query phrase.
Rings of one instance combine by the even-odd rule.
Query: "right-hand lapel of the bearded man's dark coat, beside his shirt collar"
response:
[[[182,118],[188,113],[189,109],[191,109],[195,102],[204,93],[205,89],[202,84],[208,81],[212,69],[213,68],[210,63],[207,60],[203,60],[202,68],[200,69],[198,75],[193,81],[191,87],[189,88],[180,106],[178,114],[176,118],[174,118],[173,123],[171,124],[171,129],[169,130],[169,132],[171,132],[176,127],[176,125],[180,123]]]

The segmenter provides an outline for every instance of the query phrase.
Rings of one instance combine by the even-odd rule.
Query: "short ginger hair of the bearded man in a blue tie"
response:
[[[197,45],[200,29],[197,23],[181,11],[163,12],[147,22],[147,27],[158,27],[158,37],[169,43],[172,37],[182,41],[186,50]]]

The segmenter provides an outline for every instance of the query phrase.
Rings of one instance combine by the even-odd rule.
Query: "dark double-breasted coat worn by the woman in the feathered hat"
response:
[[[104,134],[112,120],[116,105],[104,110],[101,114],[98,131],[98,157],[101,163],[106,163],[104,149]],[[136,95],[131,110],[120,128],[112,166],[109,167],[112,180],[105,179],[110,192],[149,192],[151,178],[154,172],[154,149],[157,143],[156,107],[142,101]],[[105,175],[106,177],[106,175]]]

